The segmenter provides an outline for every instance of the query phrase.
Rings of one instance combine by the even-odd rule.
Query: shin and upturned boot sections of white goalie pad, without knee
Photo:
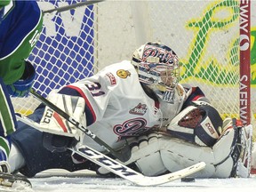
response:
[[[170,172],[190,164],[203,161],[206,167],[201,172],[196,172],[196,178],[228,178],[234,169],[232,158],[233,148],[236,144],[237,134],[231,128],[223,134],[213,148],[198,146],[176,138],[162,138],[160,150],[164,166]]]

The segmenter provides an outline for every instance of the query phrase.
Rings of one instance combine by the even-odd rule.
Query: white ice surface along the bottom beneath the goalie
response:
[[[175,180],[157,187],[138,187],[124,179],[103,179],[93,172],[43,172],[30,179],[33,188],[20,192],[242,192],[255,191],[256,177],[248,179]],[[0,191],[7,191],[1,190]],[[17,190],[18,191],[18,190]]]

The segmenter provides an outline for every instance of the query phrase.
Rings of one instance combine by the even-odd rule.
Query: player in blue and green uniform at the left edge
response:
[[[36,1],[0,1],[0,172],[7,164],[17,122],[10,95],[24,97],[36,71],[27,60],[43,28],[43,13]]]

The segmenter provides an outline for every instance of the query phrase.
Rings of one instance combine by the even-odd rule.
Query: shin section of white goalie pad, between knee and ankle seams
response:
[[[206,164],[204,170],[194,173],[191,177],[212,178],[215,172],[212,148],[200,147],[172,137],[162,137],[159,143],[162,146],[160,154],[164,167],[170,172],[176,172],[186,166],[203,161]]]

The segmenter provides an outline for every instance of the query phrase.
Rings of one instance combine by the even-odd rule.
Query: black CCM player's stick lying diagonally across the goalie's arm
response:
[[[116,156],[120,161],[125,162],[131,157],[131,150],[128,145],[125,145],[124,148],[117,152],[113,148],[110,148],[106,142],[103,140],[100,140],[99,137],[97,137],[93,132],[91,132],[89,129],[87,129],[83,124],[80,124],[76,121],[73,117],[69,116],[66,112],[64,112],[62,109],[58,108],[56,105],[54,105],[50,100],[45,99],[42,95],[38,94],[35,90],[31,90],[30,93],[39,101],[44,103],[45,106],[48,106],[49,108],[52,108],[53,111],[58,113],[60,116],[62,116],[64,119],[66,119],[69,123],[74,124],[77,129],[84,132],[87,136],[92,138],[95,142],[97,142],[100,146],[105,148],[109,153],[111,153],[113,156]]]

